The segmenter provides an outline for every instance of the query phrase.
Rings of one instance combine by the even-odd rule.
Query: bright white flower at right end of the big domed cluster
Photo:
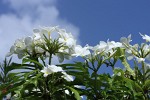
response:
[[[72,56],[76,56],[76,57],[78,56],[84,57],[90,54],[90,50],[88,46],[85,46],[82,48],[80,45],[77,45],[75,46],[74,51],[75,53],[72,54]]]

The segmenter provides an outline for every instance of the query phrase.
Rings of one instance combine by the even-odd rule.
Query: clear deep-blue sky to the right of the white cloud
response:
[[[129,34],[136,43],[142,40],[139,32],[150,34],[149,0],[60,0],[58,8],[62,18],[79,27],[83,44]]]

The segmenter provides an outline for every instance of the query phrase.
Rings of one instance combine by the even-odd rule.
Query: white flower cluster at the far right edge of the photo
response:
[[[145,70],[150,69],[150,63],[148,61],[150,60],[150,36],[143,35],[142,39],[146,40],[146,43],[134,44],[131,45],[131,35],[128,36],[128,38],[121,38],[121,42],[123,43],[124,47],[126,48],[126,56],[128,60],[135,59],[138,63],[143,62]]]

